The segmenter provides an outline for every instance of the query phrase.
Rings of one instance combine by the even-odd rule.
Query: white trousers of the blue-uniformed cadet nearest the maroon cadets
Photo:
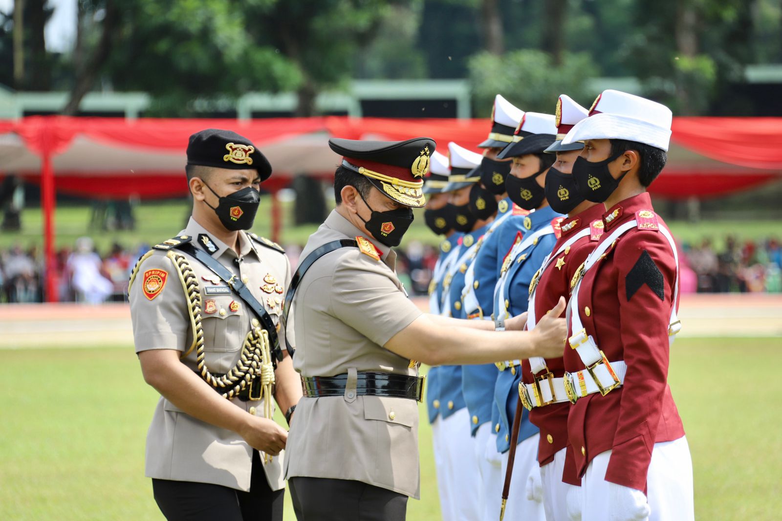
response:
[[[516,456],[513,462],[513,476],[511,489],[508,491],[508,504],[505,506],[506,521],[545,521],[546,514],[543,511],[543,503],[529,501],[527,499],[527,479],[531,472],[540,472],[537,462],[537,446],[540,434],[536,434],[522,441],[516,447]],[[505,483],[505,470],[508,469],[508,455],[510,451],[502,455],[502,483]],[[500,499],[502,490],[500,489]],[[500,519],[497,517],[497,519]]]

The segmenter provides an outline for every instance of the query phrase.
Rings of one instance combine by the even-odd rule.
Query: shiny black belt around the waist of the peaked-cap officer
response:
[[[301,379],[304,396],[343,396],[347,375],[307,376]],[[421,401],[424,379],[418,376],[394,375],[388,372],[359,372],[356,394],[363,396],[390,396]]]

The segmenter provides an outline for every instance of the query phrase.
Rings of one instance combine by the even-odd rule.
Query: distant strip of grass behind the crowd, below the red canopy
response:
[[[90,207],[88,206],[60,206],[56,210],[56,243],[58,247],[74,246],[74,240],[81,235],[90,235],[95,239],[96,246],[101,253],[106,252],[111,243],[118,242],[128,248],[135,248],[140,243],[159,243],[170,239],[175,233],[184,228],[190,211],[190,205],[185,199],[165,202],[145,202],[135,208],[137,229],[132,232],[103,232],[90,230]],[[307,237],[314,232],[317,225],[293,226],[292,204],[282,203],[282,242],[298,243],[303,246]],[[780,223],[774,220],[739,221],[726,216],[721,221],[701,221],[691,223],[686,221],[669,221],[676,238],[692,243],[703,237],[715,239],[717,247],[721,244],[725,235],[733,234],[739,239],[758,240],[769,236],[780,235]],[[0,234],[0,248],[20,244],[29,246],[42,244],[41,210],[28,208],[23,210],[20,232],[2,232]],[[261,198],[260,209],[256,217],[253,231],[259,235],[271,237],[271,198]],[[439,239],[426,228],[423,218],[423,210],[416,210],[416,219],[410,230],[404,237],[402,246],[413,240],[421,243],[437,244]]]

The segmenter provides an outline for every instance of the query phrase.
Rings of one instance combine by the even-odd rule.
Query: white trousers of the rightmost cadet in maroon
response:
[[[605,470],[612,451],[595,456],[581,480],[581,519],[609,519],[609,501]],[[647,501],[651,508],[648,521],[694,521],[692,459],[687,437],[655,444],[647,472]]]

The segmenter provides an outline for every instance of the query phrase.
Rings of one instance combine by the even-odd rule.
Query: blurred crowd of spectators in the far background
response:
[[[89,237],[76,240],[74,247],[56,252],[55,281],[60,302],[123,302],[127,300],[127,279],[138,257],[149,245],[127,249],[113,244],[95,249]],[[300,246],[285,245],[295,269]],[[397,248],[396,271],[411,295],[426,295],[437,260],[435,247],[418,242]],[[775,238],[739,242],[726,237],[716,248],[711,239],[680,245],[682,293],[782,293],[782,245]],[[0,303],[43,301],[43,257],[33,246],[0,249]]]

